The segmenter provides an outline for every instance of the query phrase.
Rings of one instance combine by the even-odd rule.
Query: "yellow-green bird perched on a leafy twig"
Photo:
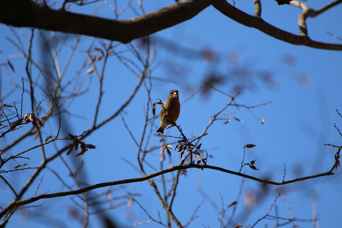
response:
[[[164,133],[164,129],[179,117],[181,104],[179,103],[178,90],[170,90],[168,98],[163,104],[164,108],[160,110],[160,128],[157,132]]]

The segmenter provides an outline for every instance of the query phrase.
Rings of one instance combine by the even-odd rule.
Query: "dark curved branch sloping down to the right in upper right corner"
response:
[[[312,48],[318,49],[327,49],[327,50],[342,50],[342,45],[340,44],[331,44],[331,43],[322,43],[313,41],[305,36],[294,35],[290,32],[281,30],[271,24],[268,24],[260,17],[255,17],[249,15],[231,4],[229,4],[226,0],[214,0],[212,5],[219,10],[221,13],[226,15],[229,18],[232,18],[234,21],[246,25],[248,27],[253,27],[259,29],[260,31],[266,33],[269,36],[272,36],[276,39],[296,44],[296,45],[305,45]]]

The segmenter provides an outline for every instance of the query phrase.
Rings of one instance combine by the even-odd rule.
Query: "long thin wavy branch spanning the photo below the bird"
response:
[[[116,180],[116,181],[111,181],[111,182],[104,182],[104,183],[91,185],[91,186],[88,186],[86,188],[73,190],[73,191],[56,192],[56,193],[50,193],[50,194],[40,194],[36,197],[32,197],[32,198],[29,198],[26,200],[14,200],[0,212],[0,218],[2,218],[13,207],[33,203],[33,202],[36,202],[40,199],[48,199],[48,198],[55,198],[55,197],[62,197],[62,196],[78,195],[78,194],[81,194],[81,193],[84,193],[84,192],[87,192],[87,191],[90,191],[90,190],[93,190],[96,188],[103,188],[103,187],[108,187],[108,186],[122,185],[122,184],[134,183],[134,182],[142,182],[142,181],[149,180],[151,178],[160,176],[162,174],[170,173],[170,172],[173,172],[176,170],[186,170],[189,168],[197,168],[197,169],[205,168],[205,169],[218,170],[218,171],[221,171],[224,173],[234,174],[237,176],[245,177],[248,179],[256,180],[258,182],[272,184],[272,185],[284,185],[284,184],[289,184],[289,183],[307,180],[307,179],[311,179],[311,178],[317,178],[320,176],[328,176],[328,175],[334,174],[332,172],[333,169],[331,169],[330,171],[328,171],[326,173],[320,173],[320,174],[316,174],[316,175],[312,175],[312,176],[306,176],[306,177],[296,178],[296,179],[287,180],[287,181],[273,182],[271,180],[259,179],[257,177],[249,176],[249,175],[239,173],[239,172],[235,172],[235,171],[231,171],[231,170],[226,170],[226,169],[216,167],[216,166],[201,165],[201,164],[187,164],[187,165],[181,165],[181,166],[174,166],[174,167],[171,167],[171,168],[165,169],[165,170],[160,170],[158,172],[155,172],[155,173],[143,176],[143,177],[130,178],[130,179],[124,179],[124,180]]]

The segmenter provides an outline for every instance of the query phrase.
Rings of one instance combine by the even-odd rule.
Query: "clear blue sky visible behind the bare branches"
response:
[[[262,3],[262,18],[265,21],[292,33],[299,33],[297,25],[299,9],[291,5],[278,6],[275,1]],[[324,3],[310,1],[305,3],[317,9],[328,3],[328,1],[324,1]],[[134,4],[136,3],[134,2]],[[144,2],[146,12],[151,12],[166,5],[167,2]],[[252,3],[248,5],[236,2],[236,6],[247,13],[253,14]],[[91,6],[89,6],[89,10],[91,10]],[[337,39],[328,35],[327,31],[342,37],[338,25],[342,19],[342,15],[338,13],[340,11],[341,6],[336,6],[317,18],[309,18],[307,24],[310,37],[323,42],[338,42]],[[105,4],[102,4],[97,15],[108,18],[112,17],[111,11]],[[127,13],[123,14],[121,19],[133,16],[132,10],[127,10]],[[1,30],[4,31],[0,35],[0,41],[3,44],[0,48],[0,62],[3,63],[10,59],[15,67],[15,73],[12,73],[10,69],[1,69],[2,86],[3,91],[5,91],[6,85],[10,87],[10,81],[6,77],[6,72],[11,74],[17,84],[21,84],[22,77],[25,78],[25,68],[23,67],[25,59],[13,58],[13,55],[18,54],[18,51],[6,40],[6,37],[14,39],[13,33],[4,25],[0,26]],[[14,30],[19,32],[17,28],[14,28]],[[29,34],[28,29],[23,29],[23,31],[27,35]],[[19,36],[21,36],[20,33]],[[38,31],[36,31],[35,37],[37,37],[37,40],[34,43],[33,52],[35,57],[40,59],[39,43],[41,41],[38,39]],[[234,117],[243,120],[243,122],[232,121],[228,124],[223,124],[224,121],[216,121],[210,127],[208,135],[203,137],[201,141],[201,149],[207,150],[208,154],[212,156],[208,164],[238,171],[244,153],[243,146],[245,144],[254,144],[257,146],[246,149],[245,162],[256,159],[255,166],[261,170],[257,171],[244,167],[242,172],[248,175],[281,181],[284,176],[284,163],[286,165],[285,179],[287,180],[330,170],[334,162],[333,155],[337,150],[324,146],[324,144],[341,144],[341,136],[333,127],[334,123],[336,123],[338,128],[342,125],[342,119],[336,112],[336,109],[339,109],[340,113],[342,113],[342,65],[340,52],[312,49],[276,40],[259,30],[248,28],[232,21],[212,6],[209,6],[189,21],[160,31],[156,33],[155,37],[151,36],[151,39],[154,38],[156,39],[157,51],[156,59],[152,65],[152,68],[155,69],[152,71],[151,76],[162,78],[166,81],[152,80],[152,99],[160,98],[165,100],[169,90],[177,89],[179,90],[180,101],[182,102],[202,84],[208,72],[211,71],[222,75],[225,79],[224,83],[215,84],[215,88],[233,95],[232,87],[236,82],[236,78],[234,78],[232,72],[236,69],[248,69],[251,72],[251,76],[246,83],[250,85],[250,88],[244,90],[237,97],[237,104],[252,106],[272,102],[272,104],[251,109],[257,119],[245,108],[229,107],[225,110],[224,113],[234,112]],[[92,38],[83,37],[80,49],[87,49],[92,40]],[[220,59],[220,62],[210,64],[201,57],[196,60],[189,59],[184,57],[182,50],[179,50],[178,54],[171,53],[161,42],[163,40],[172,41],[186,50],[199,52],[203,49],[212,50],[215,56]],[[74,41],[75,39],[68,40],[69,44],[72,44]],[[23,39],[23,42],[27,48],[27,41]],[[136,45],[138,42],[133,41],[132,43]],[[98,41],[95,41],[96,46],[100,46]],[[116,51],[126,48],[127,46],[121,44]],[[144,53],[142,50],[140,51]],[[68,50],[66,49],[65,53],[67,52]],[[65,53],[63,50],[60,55],[61,66],[66,62]],[[226,60],[227,56],[232,53],[237,53],[239,56],[236,64]],[[293,64],[286,64],[283,60],[284,55],[292,56],[295,62]],[[127,56],[134,59],[129,54]],[[67,70],[66,80],[74,75],[84,59],[87,59],[86,54],[76,52],[71,62],[71,67]],[[136,59],[134,60],[136,61]],[[101,62],[97,63],[97,66],[100,67],[100,64]],[[86,88],[89,77],[92,77],[89,92],[76,98],[68,108],[68,111],[73,113],[73,115],[65,116],[69,121],[71,134],[81,134],[92,124],[98,94],[98,82],[95,75],[86,75],[85,71],[87,69],[81,72],[80,78],[84,81],[83,88]],[[265,71],[269,72],[275,81],[275,86],[272,88],[268,88],[258,79],[259,73]],[[37,73],[37,71],[35,72]],[[307,79],[308,83],[301,83],[298,80],[301,77]],[[121,106],[122,102],[130,95],[137,81],[138,79],[129,70],[124,68],[117,58],[114,56],[109,58],[105,71],[105,95],[100,107],[99,121],[106,119]],[[26,82],[25,85],[27,86],[28,83]],[[218,112],[229,100],[228,97],[215,91],[211,91],[210,95],[201,95],[201,93],[199,92],[181,107],[181,114],[177,120],[177,124],[181,125],[183,132],[188,137],[198,136],[209,122],[211,116]],[[43,92],[39,90],[36,96],[37,100],[44,98]],[[27,102],[28,99],[29,96],[25,94],[24,101],[26,100]],[[18,104],[20,100],[21,91],[19,89],[6,98],[4,103],[11,104],[15,101]],[[29,110],[30,106],[26,105],[26,102],[24,102],[24,113],[31,111]],[[137,139],[141,138],[146,103],[146,90],[144,87],[141,87],[122,114],[129,129]],[[48,104],[45,104],[44,107],[48,107]],[[157,113],[159,109],[160,107],[157,106]],[[152,117],[151,113],[152,111],[149,117]],[[48,121],[49,123],[47,122],[43,129],[46,136],[56,132],[56,118],[51,117],[51,119],[52,121]],[[264,119],[265,124],[261,124],[259,119]],[[157,118],[153,128],[157,130],[158,126],[159,120]],[[28,126],[24,126],[24,128],[6,135],[5,139],[0,139],[0,149],[10,143],[19,133],[25,132],[27,129]],[[170,128],[166,133],[174,136],[178,135],[175,128]],[[146,145],[147,148],[161,145],[159,139],[159,137],[152,134],[150,141]],[[173,142],[173,147],[176,145],[174,140],[168,139],[168,141]],[[89,184],[141,176],[131,165],[122,160],[129,160],[137,166],[137,147],[120,117],[111,121],[101,130],[94,132],[86,139],[86,142],[96,145],[96,149],[87,151],[86,155],[81,156],[82,158],[78,157],[75,162],[76,166],[78,166],[81,161],[84,161],[84,171],[86,172]],[[27,148],[28,145],[35,146],[38,143],[38,140],[30,138],[25,141],[25,147],[22,144],[17,145],[9,153],[17,153]],[[55,146],[62,148],[64,145],[60,143]],[[55,151],[54,146],[52,144],[48,145],[47,151],[49,155],[52,155]],[[6,153],[4,156],[8,156],[9,153]],[[75,151],[69,157],[63,155],[63,158],[66,159],[71,167],[74,166],[71,165],[73,162],[70,157],[75,155]],[[28,163],[30,163],[31,167],[39,165],[41,161],[39,149],[32,150],[26,156],[30,157]],[[150,153],[147,160],[157,169],[160,169],[160,150],[157,149]],[[18,160],[18,162],[24,163],[26,161]],[[169,163],[177,164],[178,162],[179,154],[175,152],[172,153],[170,160],[166,159],[163,167],[166,168],[169,167]],[[16,163],[9,162],[8,166],[3,167],[3,169],[13,169],[12,165],[14,167]],[[50,163],[49,168],[60,173],[65,181],[76,189],[73,180],[68,176],[68,170],[60,159]],[[147,173],[154,172],[152,169],[146,168],[146,170]],[[15,189],[19,189],[31,173],[32,170],[26,170],[3,174],[3,176],[8,178],[8,181],[13,184]],[[53,193],[67,190],[49,170],[44,171],[42,175],[42,182],[39,185],[38,193]],[[32,185],[25,198],[30,198],[34,195],[41,176]],[[170,179],[171,175],[165,175],[165,178]],[[159,177],[155,178],[156,182],[158,180],[160,180]],[[225,206],[231,204],[238,196],[241,182],[242,178],[238,176],[213,170],[189,169],[187,170],[187,176],[182,175],[180,178],[173,211],[182,223],[186,223],[198,204],[204,201],[196,214],[198,218],[191,223],[190,227],[201,227],[202,224],[205,227],[218,227],[218,219],[221,216],[220,211],[217,210],[221,208],[220,193],[222,194]],[[298,219],[312,218],[312,208],[315,206],[313,202],[316,202],[313,199],[317,197],[320,227],[334,227],[339,222],[338,209],[342,203],[338,190],[340,188],[341,172],[338,169],[332,176],[279,186],[277,189],[284,193],[295,217]],[[113,187],[113,189],[116,189],[116,187]],[[94,192],[101,193],[106,190],[97,189]],[[0,205],[4,207],[12,201],[13,194],[5,185],[0,185],[0,191],[3,196],[6,196],[0,200]],[[233,221],[235,223],[242,223],[244,226],[254,224],[259,218],[264,216],[277,195],[274,187],[269,186],[268,192],[264,196],[261,184],[248,179],[245,180],[241,191],[242,195],[239,199],[236,216]],[[140,193],[141,196],[134,198],[154,218],[158,218],[159,211],[161,218],[165,220],[165,213],[152,187],[146,182],[127,184],[123,189],[118,189],[111,195],[115,197],[126,192]],[[251,194],[255,196],[256,202],[253,204],[249,216],[247,216],[248,210],[244,206],[244,199],[247,199]],[[204,195],[208,197],[206,198]],[[80,214],[82,214],[82,210],[69,199],[67,197],[65,199],[54,198],[38,201],[34,205],[42,206],[22,210],[22,212],[17,213],[11,218],[8,227],[46,227],[47,225],[44,222],[34,219],[35,213],[45,213],[47,215],[46,218],[49,218],[52,221],[51,224],[54,224],[53,226],[50,224],[52,227],[58,226],[58,223],[54,221],[55,218],[61,217],[71,221],[68,224],[69,227],[79,227],[81,224],[70,217],[69,210],[70,208],[75,208]],[[276,204],[279,217],[290,217],[283,200],[278,199]],[[229,215],[231,212],[232,210],[228,210],[227,214]],[[133,223],[149,220],[136,203],[133,203],[131,207],[125,204],[117,210],[108,211],[108,213],[127,227]],[[272,215],[275,215],[274,213],[274,211],[271,212]],[[97,222],[96,216],[90,217],[90,227],[97,227]],[[262,220],[256,227],[265,227],[265,224],[268,224],[268,227],[272,227],[274,222]],[[66,224],[59,225],[60,227],[66,226]],[[293,225],[313,227],[312,222],[294,222],[285,227],[292,227]],[[158,227],[156,223],[141,226]]]

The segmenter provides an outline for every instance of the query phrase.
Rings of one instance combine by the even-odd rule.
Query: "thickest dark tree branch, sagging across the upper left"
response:
[[[149,14],[116,21],[52,10],[30,0],[1,0],[0,23],[99,37],[128,43],[193,18],[211,0],[184,0]]]

